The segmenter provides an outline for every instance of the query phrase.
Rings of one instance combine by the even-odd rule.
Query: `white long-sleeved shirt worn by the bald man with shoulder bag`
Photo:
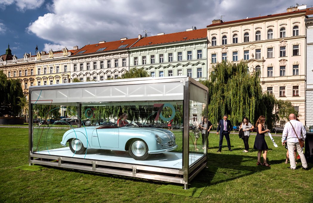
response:
[[[290,122],[292,123],[292,126],[295,128],[295,131],[297,132],[298,137],[299,138],[302,137],[302,139],[305,140],[306,132],[305,132],[305,128],[304,128],[303,124],[297,120],[290,120],[288,123],[286,123],[286,125],[284,127],[281,142],[284,142],[286,136],[287,136],[288,142],[299,142],[297,136],[295,135],[295,131],[293,130]]]

